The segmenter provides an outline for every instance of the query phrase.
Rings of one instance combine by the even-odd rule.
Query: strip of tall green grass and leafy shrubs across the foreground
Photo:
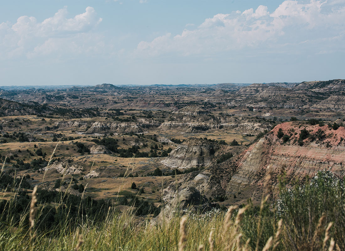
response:
[[[248,200],[228,211],[176,214],[158,225],[109,207],[103,218],[77,220],[66,210],[59,224],[42,228],[45,204],[35,204],[34,191],[19,217],[0,212],[0,250],[345,250],[344,181],[325,171],[290,188],[282,179],[279,195],[269,200],[271,175],[258,206]]]

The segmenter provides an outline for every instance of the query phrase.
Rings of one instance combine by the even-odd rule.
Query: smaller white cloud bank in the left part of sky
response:
[[[89,34],[102,21],[92,7],[73,18],[67,16],[67,7],[64,7],[42,22],[35,17],[21,16],[14,24],[1,23],[0,56],[9,59],[32,58],[53,51],[80,53],[100,43]]]

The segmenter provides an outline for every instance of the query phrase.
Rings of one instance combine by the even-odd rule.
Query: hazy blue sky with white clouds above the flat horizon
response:
[[[345,78],[345,0],[0,0],[0,86]]]

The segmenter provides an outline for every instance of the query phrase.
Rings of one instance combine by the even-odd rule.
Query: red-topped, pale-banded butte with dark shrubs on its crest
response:
[[[243,153],[227,192],[262,186],[270,167],[274,171],[273,184],[277,184],[282,167],[286,168],[287,182],[304,180],[324,169],[344,176],[344,138],[342,126],[301,125],[301,122],[277,125]]]

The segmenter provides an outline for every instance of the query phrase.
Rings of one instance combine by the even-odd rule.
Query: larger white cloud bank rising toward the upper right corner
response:
[[[139,42],[136,54],[159,56],[169,53],[210,55],[223,52],[269,49],[281,51],[313,48],[327,53],[339,47],[345,34],[345,1],[300,2],[286,0],[273,12],[266,6],[233,11],[207,18],[195,29],[184,29],[152,41]],[[345,41],[342,48],[345,49]]]

